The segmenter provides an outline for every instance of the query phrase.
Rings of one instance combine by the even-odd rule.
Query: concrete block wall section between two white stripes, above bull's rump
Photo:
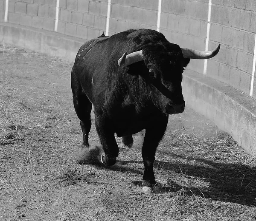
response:
[[[108,1],[60,0],[57,31],[89,40],[105,31]]]

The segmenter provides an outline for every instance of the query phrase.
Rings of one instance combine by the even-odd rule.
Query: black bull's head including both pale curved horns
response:
[[[218,54],[220,45],[212,51],[197,51],[180,48],[178,45],[165,43],[154,44],[131,54],[123,54],[118,65],[125,67],[144,61],[148,69],[146,77],[157,88],[160,94],[158,106],[165,113],[182,113],[185,102],[181,90],[182,73],[190,59],[209,59]],[[155,53],[157,51],[157,54]],[[144,75],[145,77],[145,75]]]

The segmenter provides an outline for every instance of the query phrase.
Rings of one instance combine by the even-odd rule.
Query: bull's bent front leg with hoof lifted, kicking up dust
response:
[[[105,166],[114,165],[116,163],[116,157],[119,153],[115,133],[111,125],[112,124],[108,121],[108,119],[101,118],[101,120],[99,120],[95,117],[96,130],[105,153],[101,155],[101,162]]]

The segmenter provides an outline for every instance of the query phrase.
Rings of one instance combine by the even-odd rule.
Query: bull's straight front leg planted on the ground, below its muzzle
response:
[[[156,185],[153,164],[155,153],[160,140],[163,138],[168,116],[164,116],[157,122],[151,124],[145,129],[145,138],[142,147],[142,157],[144,162],[143,174],[143,192],[159,192],[159,187]]]

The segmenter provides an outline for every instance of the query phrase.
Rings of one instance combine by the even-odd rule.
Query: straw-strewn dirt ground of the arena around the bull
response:
[[[256,159],[189,108],[170,116],[157,150],[160,194],[142,193],[141,133],[130,149],[117,139],[113,167],[73,162],[72,65],[0,47],[0,220],[256,220]]]

